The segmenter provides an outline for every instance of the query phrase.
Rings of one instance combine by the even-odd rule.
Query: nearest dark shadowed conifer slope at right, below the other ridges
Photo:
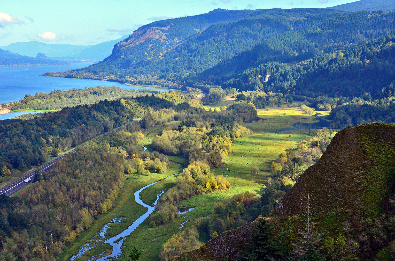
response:
[[[345,50],[335,48],[327,53],[316,50],[316,56],[301,62],[266,62],[239,73],[224,85],[241,90],[295,92],[308,97],[329,95],[352,99],[368,92],[373,99],[380,99],[383,87],[395,80],[394,41],[391,33],[360,46],[343,47]]]

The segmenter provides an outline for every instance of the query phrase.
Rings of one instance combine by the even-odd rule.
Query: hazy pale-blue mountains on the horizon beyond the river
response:
[[[96,60],[101,61],[111,54],[113,47],[129,35],[124,35],[117,40],[99,43],[97,45],[69,45],[58,43],[41,43],[38,41],[11,43],[2,46],[3,50],[23,56],[35,57],[37,53],[56,60]]]

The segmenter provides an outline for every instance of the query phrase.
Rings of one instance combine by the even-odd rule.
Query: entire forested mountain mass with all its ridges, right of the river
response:
[[[361,54],[362,45],[372,45],[390,35],[395,30],[394,18],[393,11],[216,9],[208,14],[147,24],[115,45],[102,62],[46,75],[167,88],[208,84],[240,91],[295,91],[309,97],[341,95],[352,99],[367,91],[377,97],[378,91],[395,80],[392,74],[384,73],[386,77],[378,78],[373,86],[369,80],[365,84],[359,81],[361,86],[352,90],[352,80],[339,80],[334,71],[345,70],[365,57],[369,60],[369,56]],[[344,58],[331,59],[333,55]],[[353,60],[345,59],[350,56]],[[368,65],[375,61],[369,60],[372,63]],[[392,65],[392,58],[387,62]],[[312,80],[312,75],[316,77],[325,70],[328,74],[327,69],[333,78]],[[322,88],[328,80],[336,86]],[[346,88],[341,87],[344,85]],[[341,91],[335,91],[339,88]]]

